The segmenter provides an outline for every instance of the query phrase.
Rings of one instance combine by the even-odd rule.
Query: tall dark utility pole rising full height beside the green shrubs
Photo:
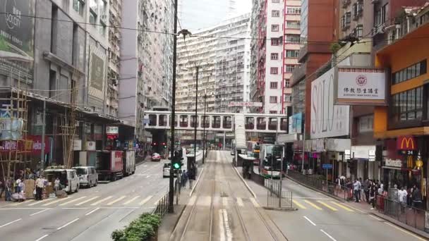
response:
[[[173,168],[173,156],[174,156],[174,123],[176,116],[176,61],[177,61],[177,1],[174,0],[174,30],[173,30],[173,85],[171,86],[171,142],[170,142],[170,180],[169,180],[169,213],[174,213],[174,168]]]

